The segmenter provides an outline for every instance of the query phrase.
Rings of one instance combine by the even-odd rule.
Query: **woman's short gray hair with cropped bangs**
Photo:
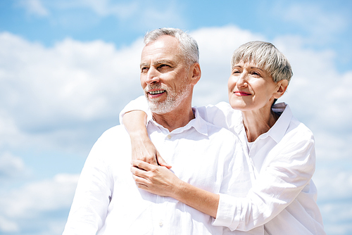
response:
[[[231,68],[240,62],[255,63],[272,76],[274,82],[291,80],[291,65],[286,56],[270,42],[253,41],[239,46],[232,55]]]

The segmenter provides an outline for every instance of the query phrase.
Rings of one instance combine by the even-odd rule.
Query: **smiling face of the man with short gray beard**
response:
[[[169,113],[189,95],[189,66],[175,37],[162,36],[144,46],[140,68],[142,88],[153,113]]]

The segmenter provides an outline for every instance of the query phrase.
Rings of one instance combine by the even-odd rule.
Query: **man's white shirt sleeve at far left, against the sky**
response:
[[[105,223],[112,179],[103,160],[105,147],[101,142],[96,141],[84,163],[63,235],[95,235]]]

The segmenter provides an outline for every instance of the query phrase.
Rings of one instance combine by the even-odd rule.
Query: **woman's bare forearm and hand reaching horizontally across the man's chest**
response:
[[[131,172],[139,189],[160,196],[170,196],[196,210],[216,217],[219,195],[192,186],[177,178],[166,167],[132,160]]]

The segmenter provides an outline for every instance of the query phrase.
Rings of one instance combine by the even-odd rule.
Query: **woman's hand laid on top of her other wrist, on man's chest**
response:
[[[175,196],[175,191],[182,186],[182,180],[168,168],[151,165],[141,160],[132,160],[131,172],[139,189],[160,196]]]

